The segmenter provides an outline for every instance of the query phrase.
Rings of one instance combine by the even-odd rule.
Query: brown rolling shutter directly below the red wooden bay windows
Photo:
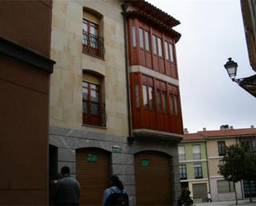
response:
[[[170,160],[157,151],[134,156],[137,205],[172,205]]]

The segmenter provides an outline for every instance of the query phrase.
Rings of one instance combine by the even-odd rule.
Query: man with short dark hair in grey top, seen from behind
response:
[[[62,178],[56,183],[55,204],[56,205],[79,205],[80,184],[70,176],[70,167],[61,168]]]

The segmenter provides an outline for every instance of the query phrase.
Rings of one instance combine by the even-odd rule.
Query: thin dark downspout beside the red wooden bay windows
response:
[[[122,4],[123,15],[123,36],[124,36],[124,54],[125,54],[125,71],[126,71],[126,91],[127,91],[127,108],[128,108],[128,143],[133,143],[133,128],[131,115],[131,99],[130,99],[130,79],[128,67],[128,35],[127,35],[127,21],[124,12],[127,9],[127,4]]]

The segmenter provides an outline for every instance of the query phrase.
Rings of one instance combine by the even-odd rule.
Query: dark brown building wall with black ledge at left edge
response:
[[[47,204],[51,3],[0,2],[1,205]]]

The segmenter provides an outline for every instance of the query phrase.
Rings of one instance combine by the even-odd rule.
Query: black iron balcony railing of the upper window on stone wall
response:
[[[104,59],[104,38],[83,31],[83,52]]]

